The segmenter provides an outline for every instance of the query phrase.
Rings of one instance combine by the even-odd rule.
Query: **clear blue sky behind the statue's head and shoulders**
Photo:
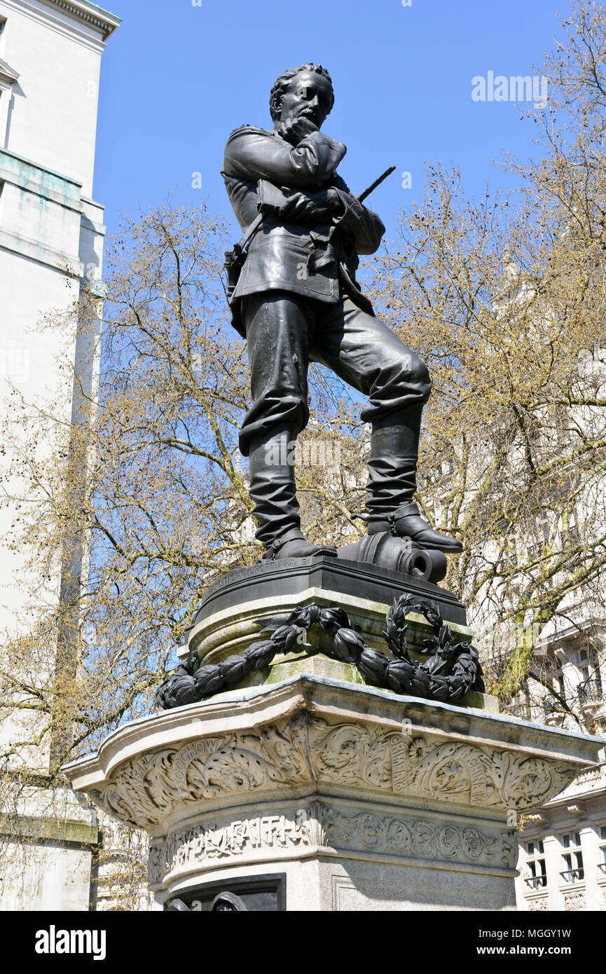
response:
[[[512,102],[474,101],[472,79],[532,74],[561,32],[556,12],[569,11],[565,0],[201,3],[112,0],[123,22],[102,57],[95,162],[110,233],[121,211],[134,216],[170,192],[194,204],[208,196],[229,214],[219,174],[227,135],[244,123],[271,128],[275,78],[307,60],[332,76],[324,130],[348,146],[339,171],[350,186],[361,192],[397,166],[371,198],[388,239],[398,208],[422,196],[425,161],[459,167],[470,194],[487,179],[505,187],[511,175],[494,160],[504,149],[533,154],[534,126]]]

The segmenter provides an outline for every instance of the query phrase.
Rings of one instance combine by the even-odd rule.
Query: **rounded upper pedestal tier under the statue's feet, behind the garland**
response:
[[[431,601],[450,627],[453,642],[472,641],[465,606],[451,592],[432,582],[341,558],[289,558],[229,572],[209,585],[192,625],[186,630],[179,656],[184,658],[193,651],[201,664],[212,664],[233,654],[242,655],[252,643],[263,638],[263,619],[287,617],[293,610],[309,605],[338,606],[358,629],[364,643],[385,653],[383,631],[387,612],[393,601],[404,593]],[[411,613],[406,623],[408,650],[413,657],[421,659],[419,651],[424,640],[432,636],[432,626],[417,613]],[[355,666],[322,655],[300,659],[306,651],[323,654],[331,648],[328,634],[314,626],[304,634],[296,651],[276,657],[266,669],[251,673],[242,685],[276,683],[295,672],[365,684]],[[486,709],[497,706],[496,699],[478,693],[460,702]]]

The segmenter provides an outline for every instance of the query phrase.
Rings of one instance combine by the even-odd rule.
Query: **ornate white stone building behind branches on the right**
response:
[[[586,513],[594,518],[591,510]],[[582,522],[582,504],[577,516]],[[601,518],[603,523],[603,515]],[[568,530],[576,528],[569,525]],[[516,560],[526,563],[533,545],[556,544],[557,531],[558,526],[546,519],[544,525],[537,525],[534,540],[512,537],[506,555],[510,564]],[[522,685],[508,713],[535,724],[603,736],[606,743],[603,583],[599,578],[568,593],[557,615],[543,628],[537,624],[509,630],[514,643],[527,639],[534,647],[531,668],[536,678]],[[490,644],[487,633],[493,627],[498,629],[500,620],[488,601],[478,599],[471,624],[478,631],[476,645],[481,647]],[[606,749],[602,749],[599,763],[557,799],[522,816],[517,869],[520,911],[606,911]]]

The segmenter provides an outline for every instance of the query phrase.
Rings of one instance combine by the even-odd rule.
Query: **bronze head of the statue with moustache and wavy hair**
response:
[[[269,110],[274,123],[285,122],[298,115],[307,116],[322,128],[334,104],[332,80],[322,64],[301,64],[289,67],[276,79],[269,98]]]

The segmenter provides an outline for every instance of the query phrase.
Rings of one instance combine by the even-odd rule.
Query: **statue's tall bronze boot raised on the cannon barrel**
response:
[[[440,534],[423,520],[412,500],[417,487],[422,412],[423,406],[412,406],[373,425],[366,485],[372,495],[366,504],[370,510],[367,532],[376,535],[387,531],[398,538],[411,538],[428,550],[462,551],[460,541]]]

